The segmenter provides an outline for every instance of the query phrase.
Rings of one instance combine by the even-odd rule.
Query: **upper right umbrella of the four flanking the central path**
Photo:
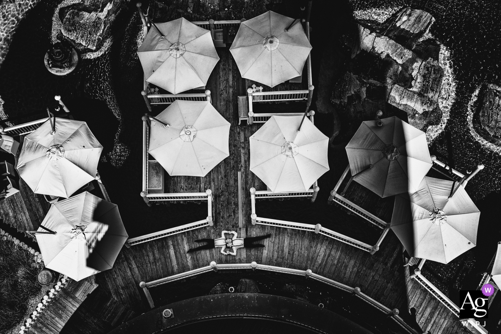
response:
[[[270,87],[299,77],[312,46],[297,20],[269,11],[244,21],[229,51],[242,78]]]

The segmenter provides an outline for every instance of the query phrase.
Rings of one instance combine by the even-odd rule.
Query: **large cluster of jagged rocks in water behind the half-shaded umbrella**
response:
[[[347,68],[352,72],[336,85],[332,96],[349,123],[374,119],[377,110],[383,117],[398,116],[389,104],[404,111],[409,124],[422,131],[439,124],[444,76],[438,63],[440,44],[423,37],[433,22],[427,12],[402,8],[382,24],[358,24],[355,36],[346,40],[352,58]],[[367,59],[374,56],[379,59]]]

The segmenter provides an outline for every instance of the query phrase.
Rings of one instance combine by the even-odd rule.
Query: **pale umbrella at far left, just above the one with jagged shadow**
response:
[[[25,137],[19,156],[19,175],[33,192],[70,197],[95,179],[103,147],[87,123],[55,118]]]

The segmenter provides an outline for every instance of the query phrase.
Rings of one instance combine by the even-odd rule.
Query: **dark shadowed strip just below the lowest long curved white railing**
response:
[[[328,310],[340,314],[372,331],[379,333],[400,333],[400,327],[394,320],[386,317],[367,302],[341,289],[325,283],[307,279],[300,275],[270,273],[266,271],[239,270],[238,272],[207,272],[187,279],[165,283],[150,288],[156,305],[211,294],[216,285],[219,293],[239,292],[241,278],[249,278],[257,283],[259,293],[279,295],[299,299],[314,305],[323,304]],[[214,292],[213,292],[214,293]],[[403,313],[403,312],[402,312]],[[409,316],[401,314],[406,321]]]

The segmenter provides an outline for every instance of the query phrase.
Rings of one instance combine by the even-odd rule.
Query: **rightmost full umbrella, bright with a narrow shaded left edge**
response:
[[[409,255],[448,263],[476,245],[478,211],[462,185],[425,177],[417,191],[395,196],[391,229]]]

